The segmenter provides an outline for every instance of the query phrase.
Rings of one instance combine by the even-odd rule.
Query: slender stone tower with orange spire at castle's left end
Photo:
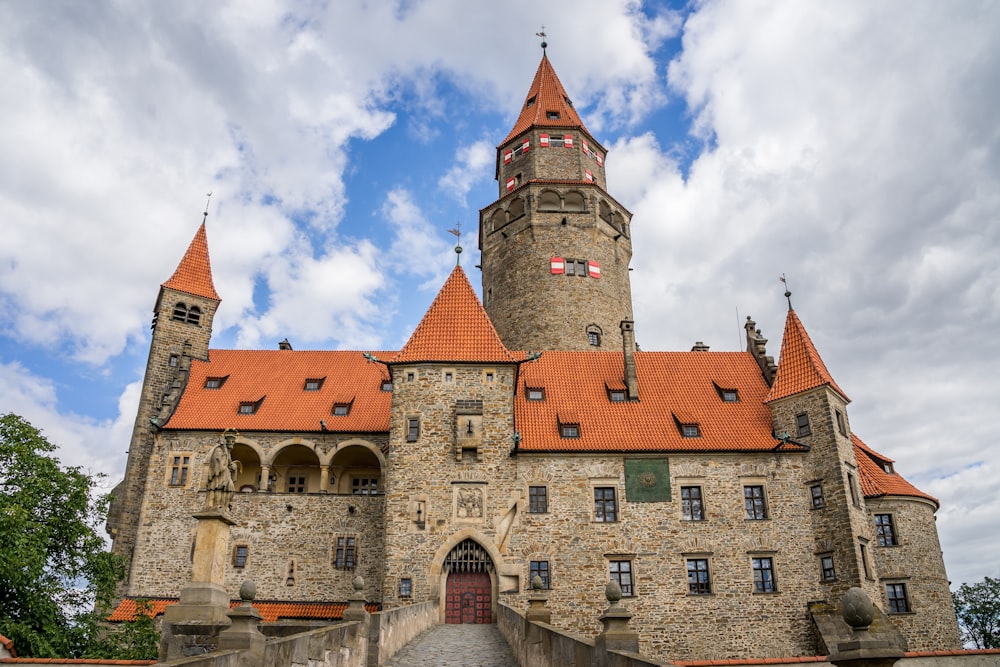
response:
[[[156,297],[153,336],[125,477],[112,492],[114,501],[108,512],[107,530],[113,540],[112,551],[128,560],[135,547],[142,494],[158,425],[166,421],[176,406],[187,382],[191,359],[208,358],[212,320],[220,302],[212,282],[203,220],[174,274],[160,286]]]

